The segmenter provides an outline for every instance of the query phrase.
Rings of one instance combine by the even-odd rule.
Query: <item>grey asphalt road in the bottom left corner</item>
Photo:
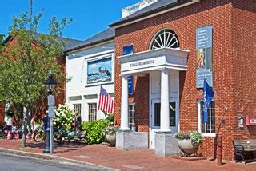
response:
[[[102,170],[96,166],[72,165],[65,162],[48,161],[31,157],[20,157],[7,153],[0,153],[0,170],[6,171],[78,171]]]

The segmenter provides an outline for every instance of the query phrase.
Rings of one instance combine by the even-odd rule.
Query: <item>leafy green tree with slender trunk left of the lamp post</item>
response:
[[[60,22],[57,18],[50,19],[50,34],[38,37],[40,18],[42,14],[32,16],[27,12],[14,17],[9,29],[13,43],[7,44],[0,53],[0,101],[15,105],[17,114],[23,113],[22,147],[26,146],[29,113],[39,109],[46,99],[44,82],[49,70],[53,71],[57,82],[66,81],[66,74],[62,72],[64,66],[58,61],[63,57],[66,44],[62,32],[71,19],[62,18]]]

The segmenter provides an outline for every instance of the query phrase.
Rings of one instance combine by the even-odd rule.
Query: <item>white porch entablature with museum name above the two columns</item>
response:
[[[152,70],[172,69],[187,70],[188,50],[160,48],[137,54],[118,57],[121,74],[148,73]]]

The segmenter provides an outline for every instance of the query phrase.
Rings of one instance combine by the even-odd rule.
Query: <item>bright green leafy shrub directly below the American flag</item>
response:
[[[82,122],[82,130],[86,131],[86,141],[89,144],[99,144],[105,140],[105,129],[109,125],[109,121],[97,120]]]

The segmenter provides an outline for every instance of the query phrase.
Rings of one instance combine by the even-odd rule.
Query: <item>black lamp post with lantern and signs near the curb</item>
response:
[[[53,117],[54,117],[54,96],[52,93],[54,92],[55,86],[57,85],[56,80],[54,79],[54,74],[49,74],[49,78],[46,80],[45,85],[48,87],[48,114],[46,121],[46,146],[43,150],[43,153],[53,153],[54,152],[54,137],[53,137]]]

